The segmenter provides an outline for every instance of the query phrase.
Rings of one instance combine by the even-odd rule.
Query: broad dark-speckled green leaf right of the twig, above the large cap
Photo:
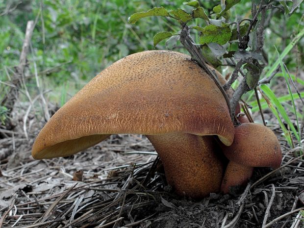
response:
[[[213,42],[224,45],[230,40],[231,34],[229,26],[219,27],[215,25],[207,25],[203,28],[202,35],[200,37],[200,44],[209,44]]]

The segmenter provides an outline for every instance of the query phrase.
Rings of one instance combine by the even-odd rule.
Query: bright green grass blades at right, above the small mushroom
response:
[[[301,127],[299,123],[303,119],[303,114],[301,114],[298,111],[299,109],[296,106],[295,100],[300,99],[300,96],[304,97],[304,92],[300,92],[300,96],[298,93],[292,92],[291,83],[296,82],[300,86],[303,86],[304,81],[298,77],[295,77],[294,75],[290,75],[286,71],[283,58],[287,56],[287,54],[292,50],[292,48],[297,44],[297,42],[299,42],[299,40],[303,37],[303,35],[304,35],[304,28],[295,36],[295,38],[287,45],[287,47],[281,53],[277,51],[278,53],[278,55],[276,56],[277,60],[266,69],[265,77],[267,78],[270,77],[278,67],[280,67],[281,72],[276,74],[276,76],[272,80],[275,81],[275,78],[283,77],[285,84],[287,86],[288,94],[280,95],[277,97],[274,91],[271,90],[270,86],[266,84],[262,84],[259,86],[263,96],[263,99],[260,100],[261,108],[266,109],[267,107],[269,107],[271,109],[271,111],[279,121],[279,125],[283,130],[284,136],[289,146],[292,148],[294,147],[294,143],[292,141],[292,135],[296,138],[298,144],[301,146],[301,139],[303,133],[301,132]],[[247,101],[251,101],[252,97],[253,97],[253,92],[249,94]],[[257,101],[251,101],[249,103],[253,107],[252,108],[253,112],[259,110]],[[302,107],[302,112],[303,112],[303,107]],[[291,116],[290,113],[292,113],[293,116]],[[294,127],[292,119],[296,121],[297,129],[296,127]],[[287,128],[285,127],[283,121],[287,124]]]

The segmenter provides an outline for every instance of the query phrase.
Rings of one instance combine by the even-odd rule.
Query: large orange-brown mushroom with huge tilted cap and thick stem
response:
[[[72,155],[123,133],[147,135],[177,193],[219,191],[223,162],[204,135],[229,146],[234,126],[223,94],[190,56],[144,51],[115,62],[51,117],[32,156]]]

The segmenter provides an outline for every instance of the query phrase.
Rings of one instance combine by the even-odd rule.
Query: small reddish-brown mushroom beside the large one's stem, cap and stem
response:
[[[282,160],[279,141],[274,132],[261,124],[243,123],[235,127],[230,146],[222,146],[229,159],[221,190],[244,185],[252,177],[253,167],[279,168]],[[237,174],[237,175],[236,175]]]

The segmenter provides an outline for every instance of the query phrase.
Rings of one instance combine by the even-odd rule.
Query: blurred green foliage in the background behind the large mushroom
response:
[[[135,25],[128,17],[155,6],[167,9],[193,8],[184,0],[0,0],[0,81],[9,81],[13,68],[19,63],[20,51],[28,20],[37,20],[28,55],[29,71],[34,65],[44,89],[51,89],[47,97],[62,105],[102,69],[122,57],[139,51],[153,50],[153,36],[159,31],[177,32],[179,27],[170,19],[150,17]],[[232,18],[251,15],[251,1],[242,0],[231,9]],[[201,1],[209,15],[219,0]],[[17,6],[6,12],[8,4]],[[269,17],[265,34],[265,53],[269,62],[277,59],[300,28],[304,26],[303,4],[290,18],[279,11]],[[197,19],[200,20],[200,19]],[[198,21],[197,21],[198,22]],[[160,42],[156,49],[182,51],[175,40]],[[304,66],[304,40],[285,59],[290,70]],[[33,64],[35,63],[35,64]],[[33,79],[27,81],[31,93],[38,91]],[[0,84],[0,99],[8,87]],[[68,93],[68,96],[66,94]]]

